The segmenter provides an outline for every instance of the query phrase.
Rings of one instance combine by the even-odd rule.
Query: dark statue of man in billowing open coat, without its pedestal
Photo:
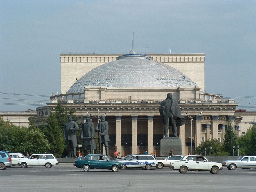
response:
[[[186,123],[185,118],[181,115],[180,106],[175,99],[172,99],[172,93],[167,94],[159,107],[159,112],[164,123],[164,137],[168,137],[169,125],[172,126],[173,137],[177,136],[177,127]]]

